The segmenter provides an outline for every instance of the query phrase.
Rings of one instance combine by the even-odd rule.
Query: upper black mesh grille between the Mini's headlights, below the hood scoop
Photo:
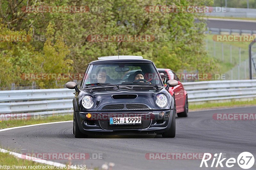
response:
[[[148,110],[148,106],[141,103],[110,104],[105,105],[101,110]]]

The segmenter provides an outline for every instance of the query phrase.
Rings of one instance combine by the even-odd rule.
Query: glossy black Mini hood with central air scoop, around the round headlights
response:
[[[164,94],[168,99],[168,104],[165,108],[160,108],[156,105],[156,95]],[[84,109],[82,106],[82,99],[84,96],[89,95],[93,98],[94,106],[90,110]],[[98,111],[108,104],[118,103],[143,103],[146,104],[149,109],[170,109],[172,96],[164,87],[158,89],[149,89],[142,87],[141,89],[130,89],[120,87],[116,90],[101,90],[101,91],[89,91],[81,89],[81,92],[77,95],[77,104],[80,106],[81,111]]]

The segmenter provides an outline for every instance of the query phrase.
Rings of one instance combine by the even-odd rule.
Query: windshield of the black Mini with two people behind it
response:
[[[153,63],[91,64],[88,67],[82,88],[94,83],[126,85],[125,82],[133,81],[163,86]]]

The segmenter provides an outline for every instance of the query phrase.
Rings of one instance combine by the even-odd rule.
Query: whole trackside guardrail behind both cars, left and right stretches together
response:
[[[189,102],[256,97],[256,80],[224,80],[183,83]],[[74,90],[35,89],[0,91],[0,114],[67,114],[73,112]]]

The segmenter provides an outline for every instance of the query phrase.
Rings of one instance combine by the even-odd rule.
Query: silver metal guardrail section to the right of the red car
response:
[[[256,80],[223,80],[183,83],[189,102],[256,97]]]

